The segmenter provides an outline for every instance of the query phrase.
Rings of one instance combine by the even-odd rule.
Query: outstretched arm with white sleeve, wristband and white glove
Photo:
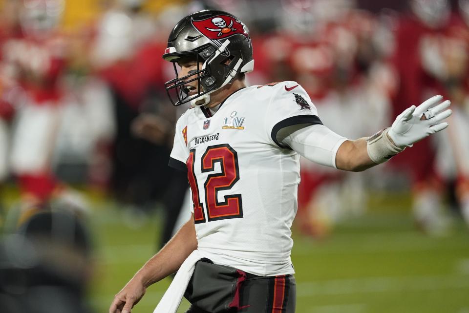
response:
[[[347,140],[323,125],[294,125],[277,133],[278,141],[315,163],[348,171],[362,171],[389,160],[405,147],[445,129],[451,115],[450,102],[435,96],[412,105],[391,127],[377,134]]]

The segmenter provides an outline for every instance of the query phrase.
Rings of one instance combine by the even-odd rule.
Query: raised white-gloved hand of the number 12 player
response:
[[[447,109],[451,102],[447,100],[442,103],[442,100],[442,96],[434,96],[423,104],[417,107],[412,105],[402,112],[388,132],[394,144],[399,147],[412,146],[426,136],[448,127],[448,123],[443,121],[452,113]]]

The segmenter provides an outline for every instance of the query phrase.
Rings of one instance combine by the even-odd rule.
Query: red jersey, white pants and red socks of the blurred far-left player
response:
[[[14,68],[21,96],[12,141],[11,168],[23,194],[46,201],[56,188],[51,161],[60,121],[59,78],[65,67],[59,36],[28,36],[4,44],[4,60]]]

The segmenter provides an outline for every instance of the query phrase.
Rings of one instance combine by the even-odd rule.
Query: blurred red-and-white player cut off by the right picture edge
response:
[[[426,55],[423,66],[443,92],[453,100],[451,127],[435,141],[435,171],[443,192],[449,191],[469,225],[469,2],[459,1],[460,15],[454,15],[445,32],[432,41],[432,53]]]

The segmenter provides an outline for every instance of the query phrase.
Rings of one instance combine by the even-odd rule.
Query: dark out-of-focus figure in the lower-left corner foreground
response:
[[[0,243],[2,313],[89,313],[91,243],[80,219],[41,211]]]

